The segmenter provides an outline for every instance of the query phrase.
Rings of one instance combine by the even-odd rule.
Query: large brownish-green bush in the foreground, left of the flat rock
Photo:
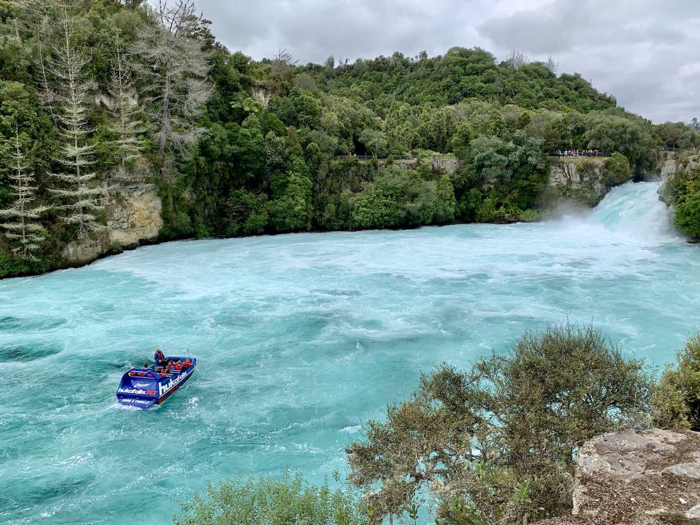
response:
[[[421,377],[411,400],[347,448],[377,516],[426,491],[440,524],[515,524],[568,512],[577,447],[645,427],[652,377],[593,328],[526,332],[510,353]]]

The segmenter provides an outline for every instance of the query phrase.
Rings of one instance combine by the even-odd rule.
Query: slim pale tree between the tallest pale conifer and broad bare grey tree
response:
[[[144,139],[141,139],[139,134],[146,132],[143,120],[139,120],[138,117],[141,110],[131,73],[127,55],[117,40],[109,94],[113,99],[111,130],[117,136],[111,145],[115,148],[122,174],[126,173],[127,164],[144,148]]]

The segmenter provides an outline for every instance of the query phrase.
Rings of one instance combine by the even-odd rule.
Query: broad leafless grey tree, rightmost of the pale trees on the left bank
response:
[[[161,175],[172,179],[175,155],[190,158],[206,131],[197,119],[212,94],[207,82],[209,55],[195,38],[202,15],[196,14],[194,1],[159,0],[149,13],[155,23],[141,31],[134,52],[144,60],[141,70],[150,77],[146,102],[158,127]]]

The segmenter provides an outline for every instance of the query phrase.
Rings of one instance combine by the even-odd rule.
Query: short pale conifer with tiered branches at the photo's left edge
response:
[[[15,200],[8,209],[0,209],[0,217],[8,219],[8,222],[0,224],[0,228],[5,230],[5,236],[15,245],[12,249],[15,255],[36,260],[34,253],[45,236],[43,228],[36,221],[49,207],[33,203],[38,188],[35,186],[34,174],[28,172],[17,128],[12,146],[12,172],[8,176]]]

